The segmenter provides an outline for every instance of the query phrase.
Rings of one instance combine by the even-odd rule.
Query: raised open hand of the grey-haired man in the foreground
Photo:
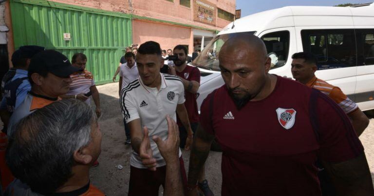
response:
[[[172,164],[176,161],[179,163],[179,130],[177,123],[166,116],[168,121],[168,139],[163,141],[158,136],[153,136],[153,141],[156,142],[158,150],[162,157],[164,157],[166,164]]]

